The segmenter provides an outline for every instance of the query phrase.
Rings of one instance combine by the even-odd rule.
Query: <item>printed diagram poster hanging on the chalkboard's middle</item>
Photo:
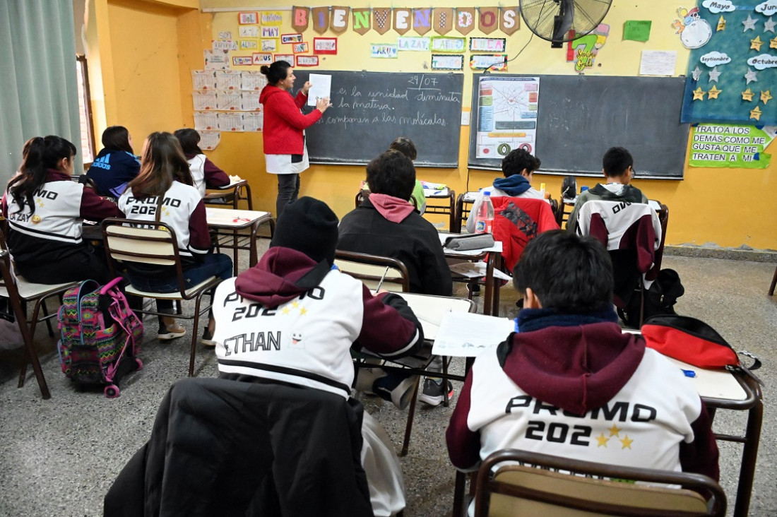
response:
[[[500,159],[515,148],[535,154],[538,77],[482,77],[476,157]]]

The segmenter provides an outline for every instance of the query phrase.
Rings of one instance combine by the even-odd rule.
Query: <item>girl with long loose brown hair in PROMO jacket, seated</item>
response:
[[[193,183],[178,139],[170,133],[156,132],[149,134],[143,145],[141,172],[119,198],[119,207],[127,218],[165,222],[176,232],[187,288],[212,276],[222,280],[232,276],[232,259],[210,251],[205,205]],[[178,291],[172,266],[127,263],[127,276],[135,288],[143,291]],[[172,313],[172,302],[160,300],[157,308],[160,313]],[[211,318],[204,330],[203,344],[212,344],[212,332]],[[158,339],[175,339],[184,334],[186,330],[172,316],[159,317]]]

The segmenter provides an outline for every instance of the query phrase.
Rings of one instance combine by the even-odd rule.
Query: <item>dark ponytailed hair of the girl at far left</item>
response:
[[[46,183],[48,169],[57,169],[61,159],[72,159],[73,156],[75,145],[58,136],[38,136],[25,142],[19,173],[8,182],[9,194],[19,205],[19,211],[23,211],[26,204],[30,213],[35,213],[33,194]]]

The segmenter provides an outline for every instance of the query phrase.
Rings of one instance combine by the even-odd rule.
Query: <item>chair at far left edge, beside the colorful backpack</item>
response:
[[[8,245],[5,241],[5,233],[3,233],[2,230],[0,230],[0,250],[8,251]],[[10,256],[6,257],[5,261],[7,264],[6,267],[9,270],[9,278],[4,277],[2,278],[2,281],[0,281],[0,296],[3,298],[11,299],[11,302],[19,303],[19,307],[23,313],[23,318],[20,321],[25,323],[25,326],[30,332],[30,342],[32,342],[33,337],[35,336],[35,327],[37,327],[37,324],[40,321],[46,322],[49,336],[54,337],[54,329],[51,327],[51,319],[56,317],[57,313],[48,313],[46,308],[46,301],[51,297],[57,296],[58,301],[61,302],[61,298],[64,292],[69,288],[78,285],[78,282],[64,282],[61,284],[35,284],[33,282],[26,281],[22,276],[16,274],[16,271],[14,271],[13,263],[10,260]],[[10,295],[12,290],[16,293],[16,295]],[[27,304],[30,302],[34,302],[35,305],[33,306],[32,317],[30,320],[27,320]],[[43,313],[43,316],[40,316],[40,313]],[[25,355],[22,362],[22,367],[19,369],[19,388],[24,386],[24,379],[27,374],[28,358],[33,361],[33,369],[35,368],[35,363],[37,362],[37,356],[33,358],[30,355]],[[38,383],[40,384],[40,379],[38,380]],[[48,393],[48,390],[46,390],[46,393]],[[44,398],[48,398],[48,396],[44,396]]]

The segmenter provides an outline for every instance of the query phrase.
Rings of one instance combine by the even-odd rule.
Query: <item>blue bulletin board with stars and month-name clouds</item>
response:
[[[777,124],[777,0],[699,0],[674,26],[692,49],[682,122]]]

